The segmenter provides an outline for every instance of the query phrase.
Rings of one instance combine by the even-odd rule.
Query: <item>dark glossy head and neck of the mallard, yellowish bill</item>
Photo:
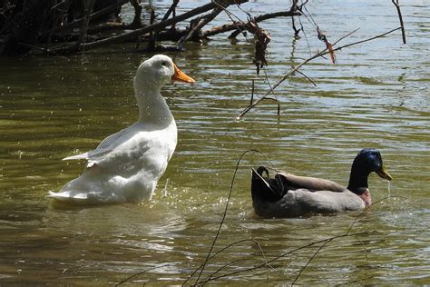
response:
[[[381,153],[373,148],[361,150],[352,163],[351,175],[349,177],[348,189],[354,193],[360,193],[362,188],[367,187],[369,173],[375,172],[381,178],[391,181],[393,178],[386,172]]]

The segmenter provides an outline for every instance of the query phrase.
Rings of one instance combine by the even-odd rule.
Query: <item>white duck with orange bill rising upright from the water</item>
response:
[[[125,203],[151,199],[176,143],[176,123],[160,94],[164,84],[195,81],[167,55],[144,61],[134,77],[139,120],[105,138],[97,148],[64,158],[88,160],[83,174],[48,197],[66,203]]]

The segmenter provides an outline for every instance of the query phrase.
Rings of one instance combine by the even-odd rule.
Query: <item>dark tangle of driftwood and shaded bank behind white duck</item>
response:
[[[138,43],[138,48],[139,44],[145,42],[147,48],[140,51],[165,49],[165,46],[156,45],[157,41],[175,42],[176,47],[168,46],[168,49],[181,50],[189,41],[206,40],[210,35],[229,31],[239,33],[247,30],[258,35],[261,30],[252,26],[261,21],[273,17],[300,15],[297,9],[291,9],[258,15],[249,19],[248,23],[236,22],[202,30],[221,12],[227,12],[229,5],[241,5],[246,2],[248,0],[208,0],[207,4],[176,15],[175,9],[180,0],[172,0],[170,8],[160,22],[152,17],[149,25],[143,25],[143,8],[140,0],[27,0],[24,2],[0,0],[0,55],[40,52],[72,54],[127,42]],[[134,8],[134,18],[131,24],[124,24],[119,22],[118,15],[122,5],[129,3]],[[291,8],[293,7],[294,5]],[[187,28],[179,30],[176,24],[182,21],[190,21],[190,24]],[[103,35],[103,31],[107,30],[114,31],[116,34],[104,33]],[[265,48],[260,48],[258,51],[262,51],[262,55],[266,53]],[[257,62],[264,64],[261,60]]]

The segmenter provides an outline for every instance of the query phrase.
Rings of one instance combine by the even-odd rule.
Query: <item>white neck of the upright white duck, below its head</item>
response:
[[[139,106],[138,123],[167,126],[174,121],[166,100],[160,94],[160,89],[157,84],[134,79],[134,94]]]

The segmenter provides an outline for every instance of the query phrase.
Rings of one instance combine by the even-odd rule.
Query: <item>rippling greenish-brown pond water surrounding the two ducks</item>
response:
[[[278,11],[273,2],[242,5],[253,14]],[[168,3],[157,3],[159,9]],[[192,2],[181,2],[181,11]],[[194,77],[194,86],[166,86],[179,127],[179,143],[151,202],[58,210],[45,198],[82,172],[67,155],[93,149],[132,124],[137,109],[132,76],[142,59],[127,45],[83,55],[0,59],[0,283],[181,284],[206,258],[227,202],[241,153],[259,149],[288,172],[347,183],[350,164],[363,147],[378,148],[394,180],[370,177],[380,201],[351,229],[369,232],[339,238],[321,249],[298,277],[301,284],[430,283],[428,174],[430,174],[430,8],[401,3],[407,45],[401,35],[337,52],[338,64],[318,59],[282,84],[281,102],[266,102],[243,120],[249,103],[253,48],[227,35],[189,44],[171,54]],[[309,12],[331,42],[360,27],[342,43],[377,35],[398,25],[390,1],[312,1]],[[181,12],[179,11],[179,13]],[[237,15],[236,9],[232,10]],[[221,16],[226,19],[225,15]],[[307,40],[292,39],[289,19],[261,24],[269,30],[271,84],[292,64],[322,50],[302,19]],[[269,90],[256,81],[256,96]],[[240,163],[230,207],[213,258],[201,278],[239,272],[293,249],[347,233],[359,213],[262,220],[251,206],[250,167],[268,164],[248,153]],[[387,195],[389,199],[383,200]],[[271,267],[239,272],[214,282],[291,283],[320,244],[293,252]],[[245,260],[246,259],[246,260]],[[194,282],[191,280],[190,282]],[[3,285],[3,284],[2,284]]]

